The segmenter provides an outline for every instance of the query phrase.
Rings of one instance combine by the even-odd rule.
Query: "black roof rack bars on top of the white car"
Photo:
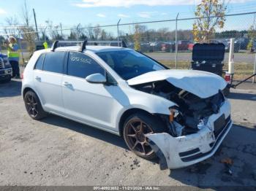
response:
[[[113,47],[127,47],[127,44],[122,41],[88,41],[85,39],[84,41],[58,41],[53,42],[51,47],[51,51],[54,52],[57,47],[68,47],[68,46],[80,46],[79,51],[83,52],[86,49],[86,45],[102,45],[102,46],[113,46]]]

